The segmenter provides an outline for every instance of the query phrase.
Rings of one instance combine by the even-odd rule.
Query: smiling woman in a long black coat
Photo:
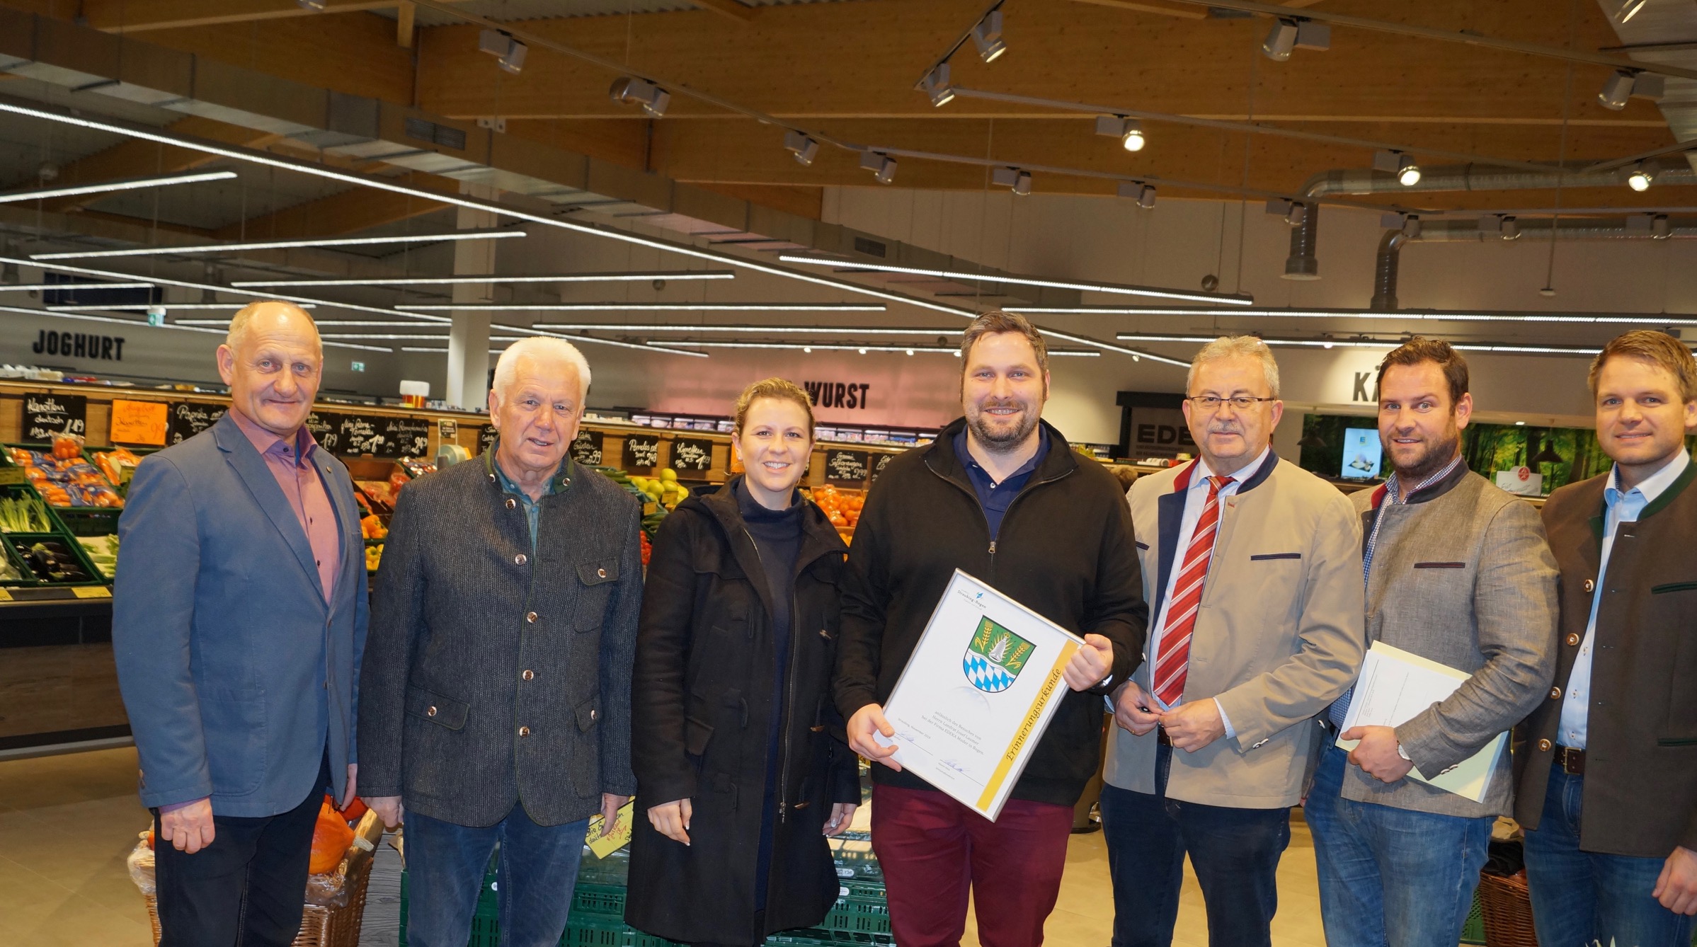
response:
[[[796,490],[806,392],[750,385],[735,445],[748,472],[677,504],[655,538],[631,691],[624,920],[687,944],[818,925],[837,901],[825,837],[860,801],[830,699],[848,548]]]

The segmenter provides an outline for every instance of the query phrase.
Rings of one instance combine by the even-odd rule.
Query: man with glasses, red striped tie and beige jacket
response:
[[[1113,694],[1103,774],[1113,947],[1171,945],[1186,854],[1208,944],[1268,947],[1317,718],[1366,653],[1361,524],[1337,487],[1273,453],[1285,406],[1261,339],[1203,346],[1186,394],[1201,457],[1129,497],[1154,621]]]

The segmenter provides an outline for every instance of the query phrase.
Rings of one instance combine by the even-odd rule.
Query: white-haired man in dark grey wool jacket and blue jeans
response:
[[[587,390],[572,345],[514,343],[489,394],[496,446],[395,502],[360,789],[385,823],[406,820],[414,947],[465,947],[496,842],[502,944],[558,944],[589,816],[611,825],[636,789],[641,507],[567,457]]]

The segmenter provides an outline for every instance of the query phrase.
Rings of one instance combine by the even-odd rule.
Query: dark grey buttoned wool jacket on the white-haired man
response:
[[[490,462],[414,480],[395,502],[360,672],[360,794],[468,827],[523,801],[562,825],[636,791],[641,507],[567,460],[533,552]]]

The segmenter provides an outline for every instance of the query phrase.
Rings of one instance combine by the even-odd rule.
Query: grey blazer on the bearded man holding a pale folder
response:
[[[1556,670],[1556,560],[1532,509],[1471,470],[1420,490],[1414,502],[1380,502],[1385,487],[1351,496],[1363,535],[1380,524],[1368,582],[1368,642],[1466,670],[1454,694],[1397,728],[1424,774],[1468,759],[1512,728],[1549,692]],[[1514,762],[1497,760],[1485,801],[1417,779],[1380,782],[1344,770],[1344,798],[1454,816],[1509,815]]]

